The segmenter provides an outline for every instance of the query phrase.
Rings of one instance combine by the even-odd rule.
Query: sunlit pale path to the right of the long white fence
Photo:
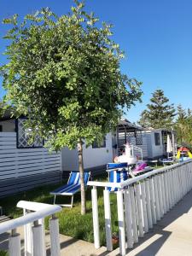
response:
[[[192,190],[126,255],[192,256]]]

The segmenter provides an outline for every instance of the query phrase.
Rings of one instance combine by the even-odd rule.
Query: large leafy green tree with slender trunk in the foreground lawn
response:
[[[71,13],[58,17],[49,9],[15,15],[6,37],[8,64],[2,67],[5,102],[47,145],[79,152],[81,212],[85,212],[82,144],[102,140],[118,124],[123,108],[140,99],[140,84],[120,72],[123,53],[115,44],[111,25],[98,23],[75,1]],[[38,127],[38,128],[37,128]]]

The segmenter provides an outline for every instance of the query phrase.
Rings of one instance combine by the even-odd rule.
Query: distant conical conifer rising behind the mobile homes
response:
[[[172,128],[176,110],[169,99],[164,95],[163,90],[155,90],[147,108],[141,113],[139,125],[143,127]]]

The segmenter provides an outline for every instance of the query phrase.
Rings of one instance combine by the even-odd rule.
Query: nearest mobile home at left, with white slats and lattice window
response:
[[[61,182],[61,154],[50,154],[38,137],[30,144],[25,120],[0,119],[0,197]]]

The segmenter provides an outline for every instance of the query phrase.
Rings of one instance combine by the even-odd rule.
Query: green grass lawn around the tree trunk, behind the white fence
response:
[[[61,186],[61,184],[59,184]],[[34,190],[26,191],[25,193],[13,195],[0,200],[0,206],[3,207],[3,214],[10,216],[11,218],[17,218],[22,215],[22,210],[16,208],[16,204],[20,200],[37,201],[43,203],[53,203],[53,195],[49,195],[49,192],[58,187],[58,185],[49,185]],[[100,221],[100,236],[102,245],[105,243],[105,222],[104,222],[104,207],[103,207],[103,189],[98,189],[98,207],[99,207],[99,221]],[[110,195],[111,200],[111,213],[112,213],[112,229],[113,232],[118,232],[117,222],[117,203],[116,195]],[[57,202],[68,203],[71,198],[66,196],[58,197]],[[80,214],[80,193],[74,196],[74,207],[62,208],[61,212],[57,213],[60,221],[60,233],[73,236],[74,238],[83,239],[84,241],[93,242],[93,226],[92,226],[92,207],[91,207],[91,195],[90,188],[86,191],[87,199],[87,213],[82,216]],[[48,218],[45,219],[46,228],[48,228]]]

